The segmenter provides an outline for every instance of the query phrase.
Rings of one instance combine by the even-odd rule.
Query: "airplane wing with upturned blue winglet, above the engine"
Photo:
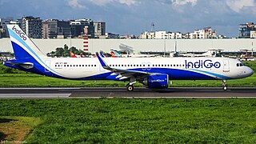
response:
[[[146,78],[148,75],[152,75],[154,73],[148,73],[138,70],[123,70],[123,69],[115,69],[111,68],[106,64],[106,62],[103,61],[102,58],[100,58],[99,54],[96,53],[99,62],[101,63],[102,67],[106,70],[110,70],[113,72],[111,75],[118,75],[116,78],[119,78],[119,80],[127,79],[127,78],[136,78],[138,80]]]

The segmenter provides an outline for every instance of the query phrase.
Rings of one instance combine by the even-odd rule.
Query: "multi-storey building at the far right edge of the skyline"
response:
[[[238,38],[254,38],[256,31],[256,25],[254,22],[247,22],[246,24],[240,24]]]

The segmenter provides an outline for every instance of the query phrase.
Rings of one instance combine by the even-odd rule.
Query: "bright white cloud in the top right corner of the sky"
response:
[[[226,0],[226,5],[237,13],[239,13],[242,9],[251,9],[255,12],[256,6],[254,0]]]

